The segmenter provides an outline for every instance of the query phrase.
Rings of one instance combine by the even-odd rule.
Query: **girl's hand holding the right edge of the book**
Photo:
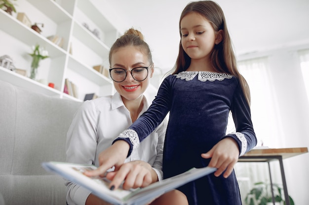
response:
[[[208,166],[217,168],[215,176],[220,176],[225,170],[224,177],[231,175],[238,161],[239,149],[234,139],[228,137],[213,146],[208,152],[202,153],[205,159],[211,158]]]

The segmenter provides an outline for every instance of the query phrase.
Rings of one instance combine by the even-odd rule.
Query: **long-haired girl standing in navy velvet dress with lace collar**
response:
[[[179,29],[181,42],[174,72],[164,79],[148,111],[106,150],[100,169],[88,174],[97,175],[120,164],[169,112],[164,178],[192,167],[216,167],[214,175],[179,190],[190,205],[241,205],[233,166],[257,140],[249,88],[237,70],[223,11],[213,1],[191,2],[181,14]],[[230,111],[236,132],[226,134]],[[121,180],[115,177],[111,186],[117,187]]]

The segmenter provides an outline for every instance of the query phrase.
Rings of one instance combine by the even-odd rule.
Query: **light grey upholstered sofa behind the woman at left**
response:
[[[41,163],[65,161],[67,130],[80,105],[0,81],[0,193],[5,205],[66,204],[63,178],[47,173]]]

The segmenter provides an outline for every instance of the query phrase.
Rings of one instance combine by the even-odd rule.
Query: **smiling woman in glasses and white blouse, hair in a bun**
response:
[[[67,136],[67,161],[99,166],[100,152],[118,134],[145,112],[143,93],[150,84],[154,63],[141,32],[129,29],[116,40],[110,51],[111,77],[116,93],[85,101],[77,111]],[[117,170],[126,177],[125,189],[147,186],[162,178],[162,152],[166,124],[159,125]],[[110,175],[108,175],[110,176]],[[67,181],[69,205],[107,205],[89,190]],[[174,191],[176,200],[182,193]],[[185,203],[186,197],[183,195]]]

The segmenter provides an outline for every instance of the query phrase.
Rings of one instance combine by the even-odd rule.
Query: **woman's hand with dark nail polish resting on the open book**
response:
[[[136,160],[121,165],[118,171],[109,172],[106,177],[110,179],[111,186],[118,188],[123,182],[123,189],[145,187],[158,180],[156,172],[145,161]]]

